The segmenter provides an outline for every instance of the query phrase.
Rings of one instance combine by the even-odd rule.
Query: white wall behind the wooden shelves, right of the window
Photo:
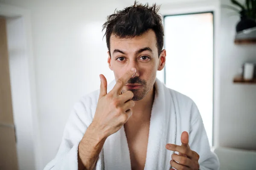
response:
[[[222,0],[222,4],[229,1]],[[243,1],[242,1],[243,2]],[[233,84],[232,80],[243,62],[256,62],[256,45],[235,45],[238,16],[221,9],[220,119],[219,144],[256,150],[256,85]],[[216,63],[217,64],[217,63]]]

